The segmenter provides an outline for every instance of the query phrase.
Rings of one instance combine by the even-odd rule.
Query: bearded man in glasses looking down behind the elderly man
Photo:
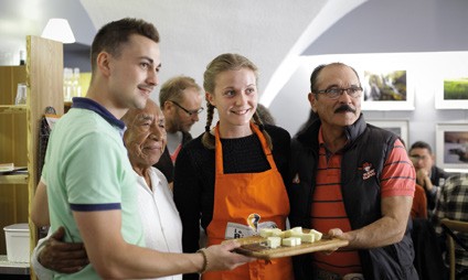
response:
[[[168,143],[161,159],[153,166],[172,185],[177,155],[182,146],[192,140],[189,131],[203,111],[202,89],[193,78],[176,76],[161,86],[159,104],[166,118]]]

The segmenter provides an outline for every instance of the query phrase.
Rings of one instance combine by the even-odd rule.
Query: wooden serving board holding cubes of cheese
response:
[[[237,238],[235,240],[241,244],[241,247],[235,249],[236,252],[265,260],[291,257],[315,251],[334,250],[349,244],[347,240],[325,237],[315,243],[302,243],[301,245],[294,247],[280,246],[273,249],[266,246],[266,238],[260,236]]]

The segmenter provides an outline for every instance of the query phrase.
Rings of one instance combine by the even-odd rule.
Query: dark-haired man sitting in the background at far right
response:
[[[424,141],[414,142],[408,154],[416,169],[416,182],[426,192],[427,208],[430,215],[436,207],[437,196],[440,193],[439,189],[449,174],[435,165],[433,149]]]

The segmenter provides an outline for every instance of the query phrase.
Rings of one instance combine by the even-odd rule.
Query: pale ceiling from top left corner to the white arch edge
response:
[[[235,52],[251,58],[260,69],[260,91],[278,90],[289,77],[288,62],[363,2],[2,0],[0,52],[18,56],[19,50],[24,49],[25,35],[40,35],[50,18],[65,18],[77,41],[65,45],[65,52],[87,55],[96,30],[111,20],[134,17],[152,22],[161,34],[161,82],[184,74],[202,84],[204,68],[211,60],[221,53]]]

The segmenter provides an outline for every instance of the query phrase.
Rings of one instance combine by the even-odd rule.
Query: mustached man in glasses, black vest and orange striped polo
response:
[[[318,66],[310,89],[318,118],[292,140],[289,220],[349,246],[295,257],[296,280],[418,279],[408,230],[415,171],[402,141],[365,122],[352,67]]]

